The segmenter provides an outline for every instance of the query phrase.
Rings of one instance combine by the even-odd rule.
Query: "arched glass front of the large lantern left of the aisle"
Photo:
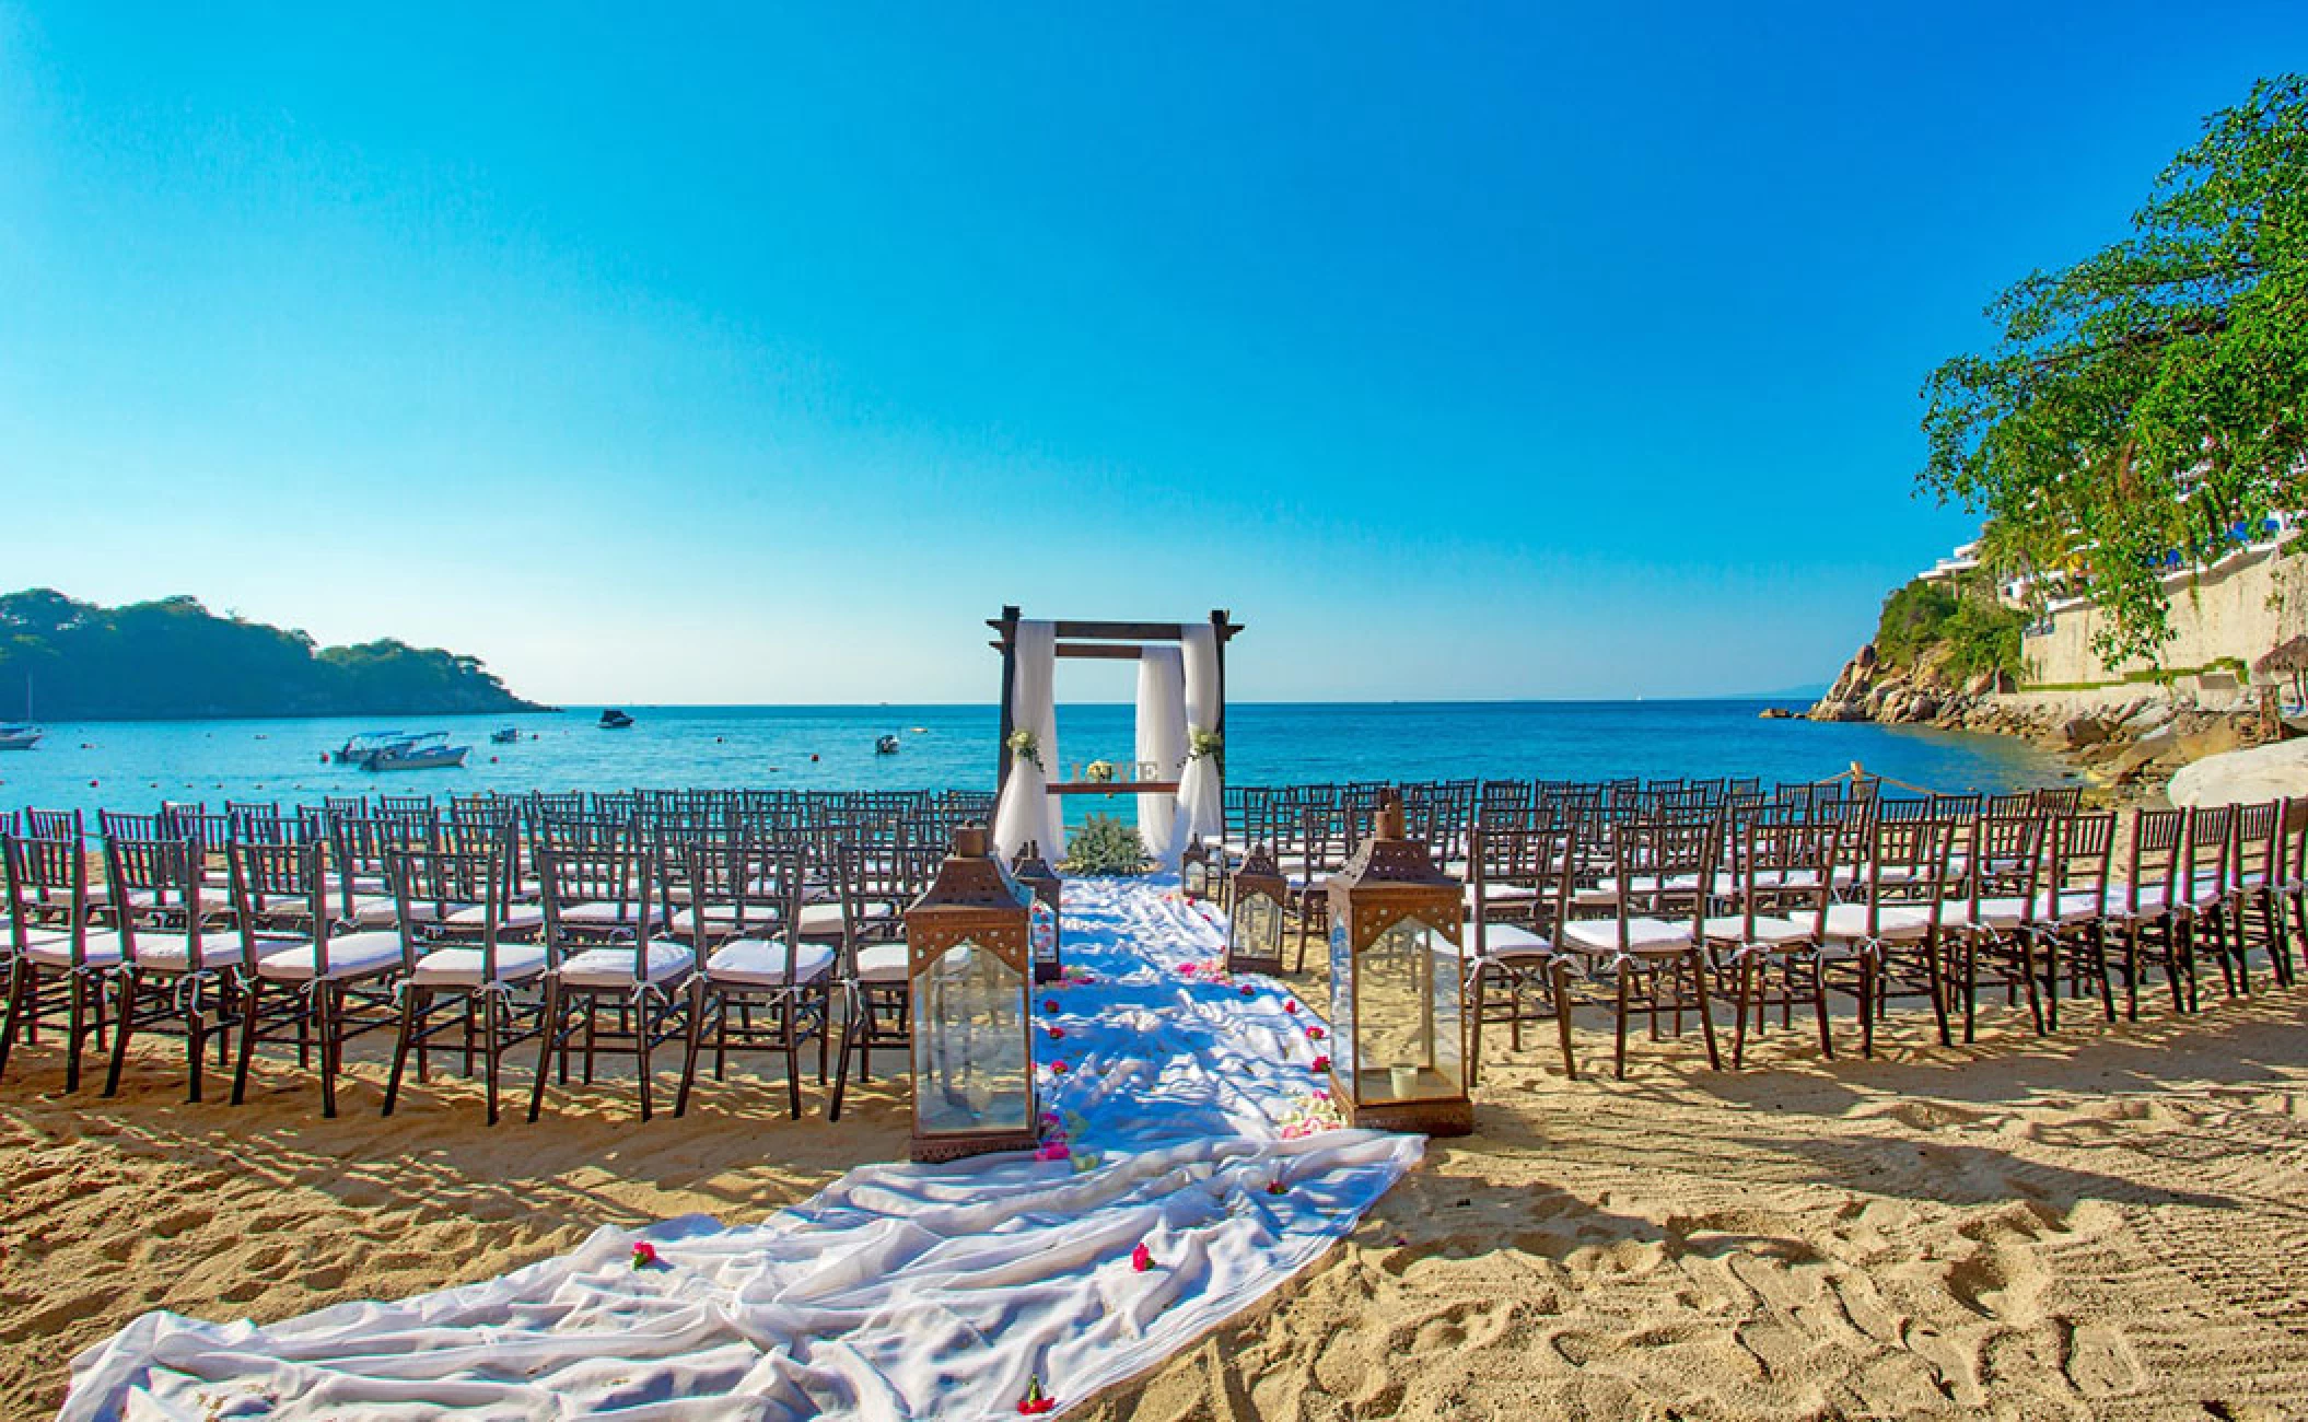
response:
[[[958,942],[914,974],[914,1129],[923,1136],[1034,1124],[1025,974]]]

